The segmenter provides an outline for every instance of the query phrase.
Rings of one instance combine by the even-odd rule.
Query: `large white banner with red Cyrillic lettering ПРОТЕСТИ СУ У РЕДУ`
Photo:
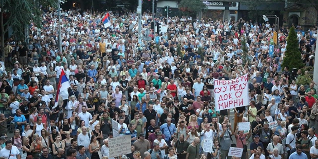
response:
[[[217,111],[249,105],[248,75],[231,80],[214,79],[214,97]]]

